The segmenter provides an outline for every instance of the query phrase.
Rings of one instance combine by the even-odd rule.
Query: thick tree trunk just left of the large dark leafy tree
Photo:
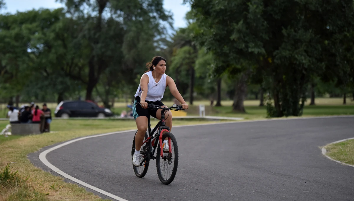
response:
[[[234,103],[232,105],[233,106],[232,110],[234,112],[241,112],[241,113],[246,112],[244,106],[244,100],[245,100],[246,90],[247,90],[246,79],[247,76],[243,73],[240,79],[236,82]]]

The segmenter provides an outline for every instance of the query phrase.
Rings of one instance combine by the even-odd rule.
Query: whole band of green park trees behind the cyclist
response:
[[[281,117],[302,115],[308,98],[354,96],[349,0],[185,0],[187,27],[172,35],[162,0],[60,2],[0,16],[1,102],[130,102],[155,55],[190,105],[247,112],[244,100],[259,99]]]

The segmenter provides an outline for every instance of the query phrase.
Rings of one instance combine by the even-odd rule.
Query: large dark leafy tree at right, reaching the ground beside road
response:
[[[228,64],[219,66],[216,73],[223,73],[230,66],[237,69],[242,60],[261,67],[264,84],[274,100],[274,105],[268,104],[270,117],[302,115],[310,78],[324,72],[325,66],[330,64],[323,54],[331,48],[325,46],[323,39],[337,41],[338,48],[348,47],[343,39],[353,27],[350,21],[353,3],[350,1],[188,2],[203,30],[196,33],[199,43],[220,58],[221,63]],[[340,15],[328,15],[333,12]],[[328,59],[339,63],[347,58],[346,54],[336,56]],[[347,69],[337,67],[341,68],[339,72]]]

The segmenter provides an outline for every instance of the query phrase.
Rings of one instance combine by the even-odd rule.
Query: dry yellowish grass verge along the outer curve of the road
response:
[[[173,125],[210,123],[215,121],[178,121]],[[157,123],[152,121],[152,124]],[[2,123],[4,124],[4,122]],[[53,133],[9,136],[0,141],[0,200],[8,201],[101,201],[100,197],[76,184],[63,181],[61,177],[35,167],[27,155],[42,147],[82,136],[136,129],[134,121],[115,119],[60,120],[53,121]],[[55,132],[54,132],[55,131]],[[132,133],[133,137],[134,133]],[[15,138],[17,137],[17,138]],[[6,185],[5,185],[6,184]]]

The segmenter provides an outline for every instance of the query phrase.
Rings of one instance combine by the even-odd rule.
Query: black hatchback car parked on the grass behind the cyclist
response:
[[[110,117],[113,112],[88,101],[62,101],[55,108],[56,117]]]

